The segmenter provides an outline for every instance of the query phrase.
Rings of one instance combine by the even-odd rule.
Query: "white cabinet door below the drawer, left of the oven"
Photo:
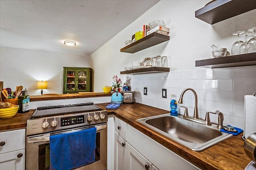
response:
[[[0,154],[0,170],[25,170],[26,149]]]

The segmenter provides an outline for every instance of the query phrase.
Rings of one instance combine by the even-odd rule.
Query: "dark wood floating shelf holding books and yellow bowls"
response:
[[[144,50],[148,47],[152,47],[154,45],[163,43],[168,40],[170,40],[170,36],[168,36],[168,35],[163,35],[160,33],[152,33],[152,34],[147,35],[146,37],[143,37],[142,39],[139,39],[138,41],[135,41],[134,43],[131,43],[130,45],[127,45],[126,47],[120,49],[120,52],[136,53],[138,51]]]

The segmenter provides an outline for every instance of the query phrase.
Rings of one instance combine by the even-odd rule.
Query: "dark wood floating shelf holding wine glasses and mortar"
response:
[[[213,59],[196,61],[196,67],[222,68],[235,66],[256,65],[256,53],[247,53],[241,55],[232,55]]]

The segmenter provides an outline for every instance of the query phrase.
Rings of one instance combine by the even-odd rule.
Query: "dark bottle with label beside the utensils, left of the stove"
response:
[[[25,89],[22,91],[22,95],[18,96],[18,105],[20,106],[18,109],[18,113],[26,113],[29,111],[29,102],[30,98],[28,96],[28,92]]]

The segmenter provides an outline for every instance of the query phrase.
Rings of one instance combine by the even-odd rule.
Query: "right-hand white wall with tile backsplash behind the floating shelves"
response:
[[[185,88],[194,88],[200,96],[198,108],[201,118],[204,118],[206,111],[219,109],[224,113],[224,125],[243,128],[243,98],[256,92],[256,66],[205,69],[195,67],[195,61],[212,58],[212,44],[231,51],[237,40],[232,33],[256,26],[256,10],[210,25],[195,18],[195,11],[208,2],[210,0],[161,0],[120,31],[90,56],[94,80],[100,80],[94,81],[94,91],[102,92],[102,86],[111,85],[112,76],[118,75],[123,81],[130,81],[136,102],[168,110],[170,94],[179,97]],[[170,41],[134,54],[120,52],[126,40],[131,39],[135,32],[142,31],[142,25],[154,20],[165,21],[166,27],[170,28]],[[125,66],[132,66],[133,61],[142,62],[144,58],[156,55],[168,57],[171,72],[120,75],[120,71]],[[143,87],[148,87],[147,96],[142,93]],[[167,88],[167,99],[162,98],[162,88]],[[188,92],[183,104],[189,107],[190,115],[193,115],[193,98]],[[214,115],[212,121],[217,121]]]

